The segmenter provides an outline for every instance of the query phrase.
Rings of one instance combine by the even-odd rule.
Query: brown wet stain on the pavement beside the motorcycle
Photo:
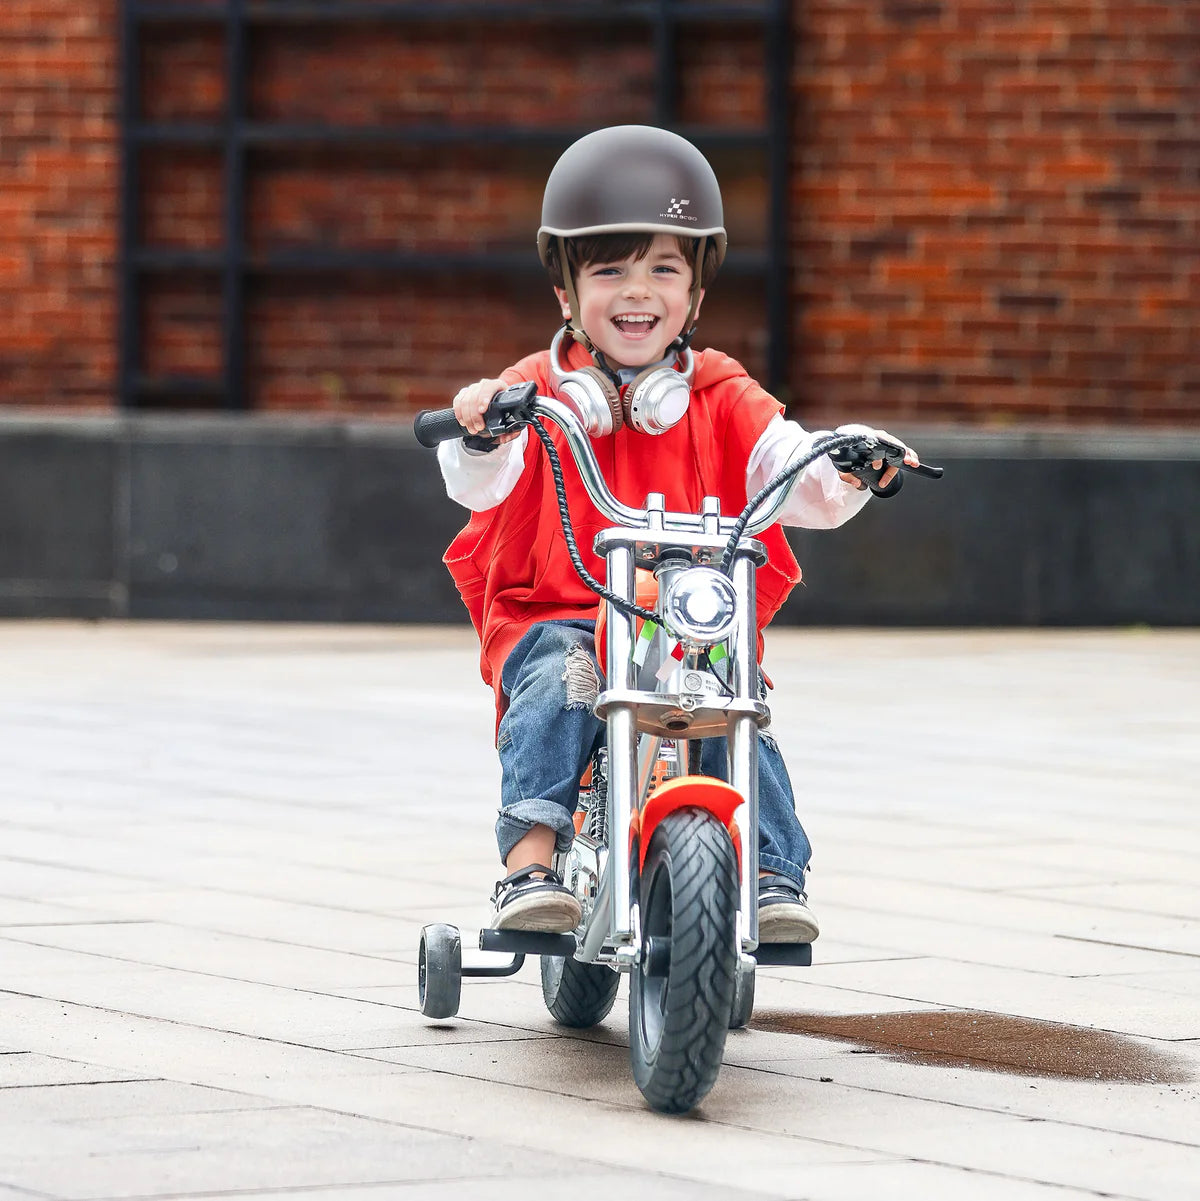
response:
[[[751,1029],[858,1044],[858,1053],[905,1063],[1022,1076],[1182,1083],[1188,1065],[1168,1051],[1085,1026],[1038,1022],[984,1010],[901,1014],[757,1012]]]

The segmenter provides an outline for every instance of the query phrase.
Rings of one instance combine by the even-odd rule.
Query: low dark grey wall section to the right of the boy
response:
[[[805,586],[781,620],[1200,621],[1200,461],[937,461],[841,530],[789,531]]]

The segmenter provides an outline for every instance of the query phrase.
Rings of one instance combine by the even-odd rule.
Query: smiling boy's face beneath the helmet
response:
[[[562,316],[569,317],[566,289],[554,291]],[[589,263],[578,270],[575,324],[614,366],[649,366],[683,333],[691,292],[691,259],[671,234],[659,233],[644,258]],[[693,319],[699,312],[698,301]]]

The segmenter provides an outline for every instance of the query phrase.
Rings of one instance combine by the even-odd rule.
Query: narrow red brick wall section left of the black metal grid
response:
[[[117,0],[0,4],[0,402],[108,406]]]

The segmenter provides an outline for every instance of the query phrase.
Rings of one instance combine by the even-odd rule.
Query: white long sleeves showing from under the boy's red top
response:
[[[772,418],[746,464],[746,496],[754,496],[789,462],[805,454],[814,437],[796,422]],[[494,509],[520,479],[527,440],[529,430],[521,430],[519,437],[490,454],[468,450],[461,438],[441,443],[437,462],[450,500],[473,513]],[[847,484],[829,456],[822,455],[800,473],[778,520],[806,530],[834,530],[849,521],[870,497],[868,489],[859,491]]]

